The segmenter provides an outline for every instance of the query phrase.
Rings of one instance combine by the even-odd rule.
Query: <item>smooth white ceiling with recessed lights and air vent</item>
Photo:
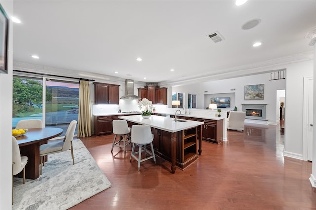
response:
[[[172,83],[302,59],[313,52],[316,1],[14,0],[14,16],[14,62]]]

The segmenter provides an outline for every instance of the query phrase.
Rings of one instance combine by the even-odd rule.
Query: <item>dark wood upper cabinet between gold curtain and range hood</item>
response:
[[[119,85],[93,82],[94,104],[119,104]]]

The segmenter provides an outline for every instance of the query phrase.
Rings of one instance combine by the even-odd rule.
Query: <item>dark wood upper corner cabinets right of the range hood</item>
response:
[[[144,88],[138,88],[138,96],[143,99],[147,98],[153,104],[167,104],[167,89],[166,87],[160,88],[155,85],[147,85]]]

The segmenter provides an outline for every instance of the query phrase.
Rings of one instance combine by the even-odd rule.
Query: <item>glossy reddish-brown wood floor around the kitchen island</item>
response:
[[[81,138],[112,184],[71,210],[311,210],[316,191],[312,163],[283,157],[279,126],[245,126],[228,131],[228,141],[202,142],[202,155],[189,168],[170,173],[158,159],[129,162],[113,135]],[[76,155],[76,154],[75,154]]]

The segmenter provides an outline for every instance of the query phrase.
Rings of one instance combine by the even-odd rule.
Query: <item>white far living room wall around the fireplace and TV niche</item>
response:
[[[285,79],[269,81],[269,73],[244,76],[232,79],[223,79],[198,83],[197,85],[183,85],[172,88],[172,92],[197,94],[197,107],[205,109],[209,105],[210,96],[231,97],[231,107],[222,110],[242,110],[242,104],[267,104],[266,119],[270,124],[276,124],[279,111],[276,108],[277,90],[285,89]],[[244,86],[264,84],[264,100],[244,100]],[[235,89],[231,91],[231,89]],[[207,100],[205,102],[205,100]],[[187,102],[185,102],[187,104]]]

